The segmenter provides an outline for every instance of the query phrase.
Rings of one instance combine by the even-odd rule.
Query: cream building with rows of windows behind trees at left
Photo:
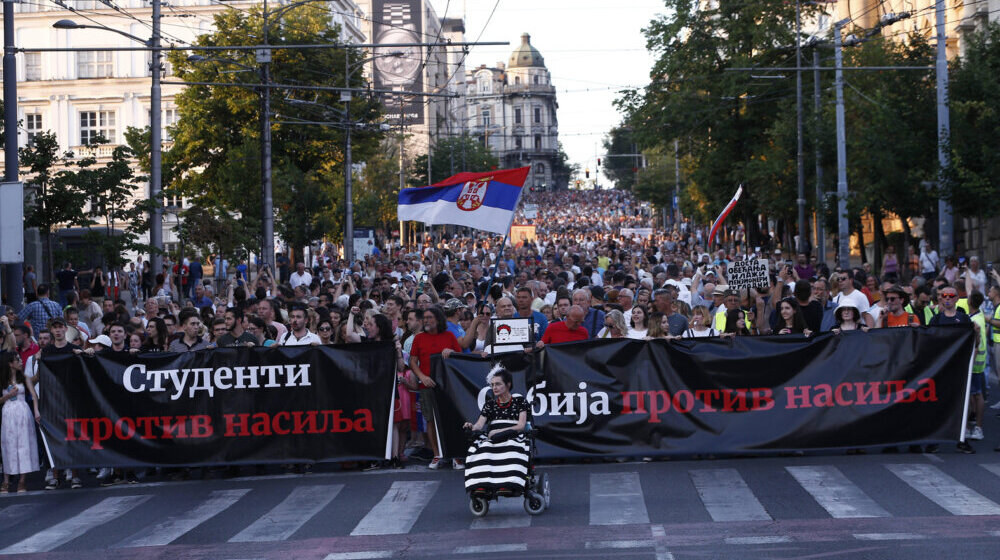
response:
[[[268,3],[269,11],[287,5],[288,0]],[[364,12],[353,0],[323,2],[332,22],[340,25],[345,42],[361,43],[366,39],[362,20]],[[39,0],[14,3],[15,44],[18,48],[123,48],[142,47],[136,41],[105,29],[56,29],[57,21],[107,27],[146,39],[152,35],[152,4],[149,0]],[[245,10],[259,6],[259,0],[161,0],[161,34],[164,46],[184,46],[198,36],[214,30],[213,18],[226,10]],[[21,52],[17,55],[18,144],[28,145],[42,131],[54,132],[60,151],[77,155],[96,155],[106,160],[117,145],[124,143],[128,127],[150,125],[150,61],[148,51],[74,51]],[[171,68],[164,57],[164,81],[171,81]],[[163,140],[169,145],[169,126],[179,117],[174,95],[184,86],[162,86],[161,122]],[[102,135],[109,144],[87,147]],[[0,159],[3,154],[0,153]],[[149,186],[137,197],[147,197]],[[183,205],[183,200],[167,200],[167,205]],[[163,220],[164,248],[174,250],[176,216],[167,212]],[[37,238],[37,237],[36,237]],[[39,266],[39,251],[26,238],[28,264]]]

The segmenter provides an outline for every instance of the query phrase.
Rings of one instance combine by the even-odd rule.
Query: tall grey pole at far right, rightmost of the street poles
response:
[[[938,172],[938,232],[940,237],[940,247],[942,257],[948,257],[955,253],[955,224],[952,220],[951,204],[944,196],[946,177],[945,172],[951,165],[951,157],[948,155],[948,139],[951,137],[951,117],[948,114],[948,34],[945,29],[945,2],[936,0],[935,2],[935,23],[937,24],[937,61],[935,70],[937,74],[937,109],[938,109],[938,165],[941,169]]]

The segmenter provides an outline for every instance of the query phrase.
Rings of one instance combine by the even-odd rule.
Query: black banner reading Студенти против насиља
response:
[[[59,467],[381,459],[389,343],[41,360],[42,429]]]

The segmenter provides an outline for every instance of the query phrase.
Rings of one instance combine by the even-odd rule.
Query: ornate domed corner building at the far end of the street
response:
[[[527,186],[565,188],[553,174],[559,157],[556,90],[531,36],[521,35],[506,64],[470,70],[466,84],[469,134],[489,147],[502,167],[530,166]]]

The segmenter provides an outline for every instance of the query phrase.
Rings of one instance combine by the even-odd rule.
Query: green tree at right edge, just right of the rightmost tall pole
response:
[[[950,70],[951,168],[942,193],[966,216],[1000,215],[1000,24],[966,39]]]

